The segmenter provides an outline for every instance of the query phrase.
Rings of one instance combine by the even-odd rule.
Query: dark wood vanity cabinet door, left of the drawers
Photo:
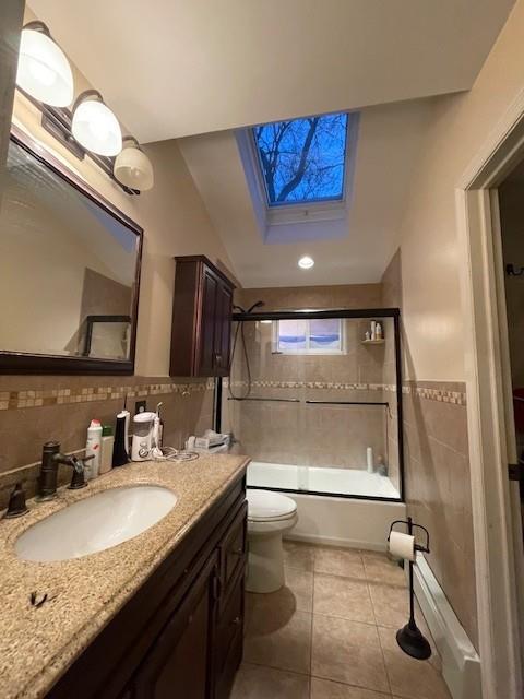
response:
[[[215,577],[213,556],[144,659],[133,682],[134,699],[210,696]]]

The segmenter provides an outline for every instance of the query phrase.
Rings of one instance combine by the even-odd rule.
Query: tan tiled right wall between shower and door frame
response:
[[[382,285],[383,305],[397,306],[402,313],[400,251],[384,273]],[[404,332],[402,341],[406,370],[410,369],[409,337]],[[408,512],[429,530],[428,562],[478,648],[465,384],[409,378],[403,386]],[[396,436],[396,431],[391,429],[390,435]]]

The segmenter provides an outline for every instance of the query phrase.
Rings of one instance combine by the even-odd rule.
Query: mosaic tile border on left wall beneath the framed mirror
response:
[[[189,395],[214,389],[213,379],[194,383],[128,383],[124,386],[96,386],[74,389],[46,389],[31,391],[0,391],[0,411],[43,407],[92,401],[116,401],[147,395],[180,393]]]

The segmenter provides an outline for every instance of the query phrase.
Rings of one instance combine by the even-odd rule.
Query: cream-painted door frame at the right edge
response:
[[[497,187],[524,158],[524,91],[497,123],[455,188],[464,310],[467,423],[483,699],[519,699],[522,542],[508,478],[512,419]],[[501,332],[502,331],[502,332]],[[521,537],[522,540],[522,537]]]

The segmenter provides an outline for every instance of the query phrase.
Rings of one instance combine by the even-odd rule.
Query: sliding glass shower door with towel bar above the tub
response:
[[[369,319],[241,321],[223,429],[248,485],[400,499],[394,323],[374,320],[374,341]]]

